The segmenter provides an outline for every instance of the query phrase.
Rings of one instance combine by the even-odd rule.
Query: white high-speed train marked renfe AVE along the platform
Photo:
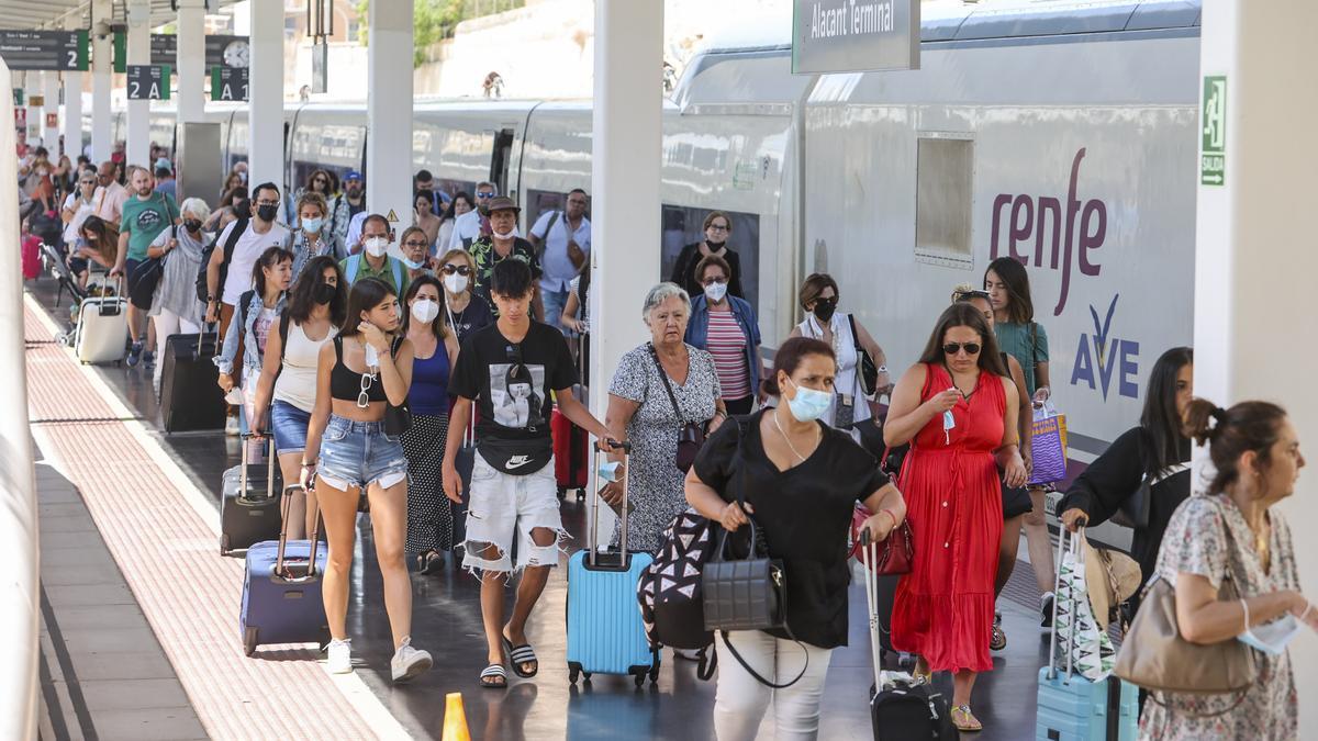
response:
[[[953,286],[1017,257],[1087,463],[1137,421],[1157,356],[1193,336],[1199,15],[1198,0],[925,3],[920,70],[832,75],[791,74],[786,24],[731,30],[664,103],[664,274],[726,211],[767,348],[800,318],[800,281],[826,270],[899,372]],[[246,112],[210,115],[225,162],[244,160]],[[173,113],[152,127],[170,142]],[[525,229],[590,190],[590,128],[589,102],[418,102],[413,160],[448,190],[497,182]],[[285,136],[287,183],[364,170],[362,104],[290,105]]]

